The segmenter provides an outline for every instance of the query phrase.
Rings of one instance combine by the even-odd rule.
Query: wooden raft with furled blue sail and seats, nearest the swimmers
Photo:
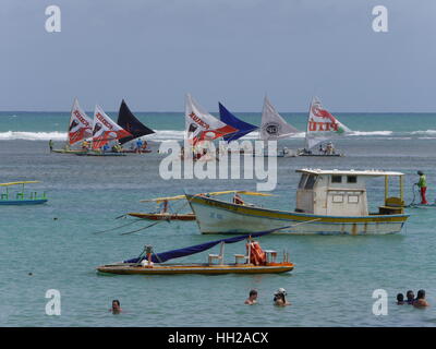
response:
[[[291,272],[294,264],[289,261],[289,253],[283,251],[283,261],[277,262],[277,252],[262,250],[253,238],[268,234],[276,229],[261,231],[252,234],[243,234],[233,238],[220,239],[187,246],[179,250],[171,250],[162,253],[155,253],[153,246],[145,245],[138,257],[101,265],[97,267],[100,273],[110,274],[140,274],[140,275],[171,275],[171,274],[270,274]],[[226,243],[234,243],[247,240],[246,254],[234,254],[234,263],[225,263]],[[209,250],[220,245],[219,254],[208,254],[207,263],[191,264],[166,264],[165,262]],[[217,263],[215,263],[217,261]]]

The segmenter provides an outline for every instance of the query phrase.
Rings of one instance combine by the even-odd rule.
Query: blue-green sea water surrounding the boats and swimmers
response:
[[[116,113],[109,113],[114,118]],[[282,113],[304,130],[304,113]],[[145,244],[166,251],[213,240],[195,222],[149,222],[116,219],[126,212],[155,207],[140,203],[160,195],[242,189],[257,180],[162,180],[157,154],[160,141],[181,140],[182,113],[137,112],[148,127],[153,153],[125,157],[80,157],[50,154],[59,146],[68,112],[0,112],[0,182],[40,180],[28,190],[47,192],[49,202],[35,207],[0,207],[0,326],[435,326],[436,208],[408,209],[401,233],[380,237],[267,236],[261,245],[287,249],[295,263],[281,275],[102,276],[101,264],[138,255]],[[259,123],[259,113],[238,113]],[[405,176],[405,201],[413,198],[416,170],[427,174],[428,197],[436,197],[435,113],[338,113],[354,134],[335,141],[341,158],[278,158],[277,196],[250,197],[267,207],[293,209],[299,181],[295,169],[385,169]],[[256,135],[250,136],[254,139]],[[154,141],[154,142],[153,142]],[[280,142],[303,146],[303,133]],[[382,179],[368,183],[374,209],[383,202]],[[179,204],[180,205],[180,204]],[[226,246],[228,261],[243,243]],[[206,261],[207,252],[183,262]],[[32,275],[29,275],[32,273]],[[272,305],[279,287],[291,306]],[[244,305],[252,288],[259,304]],[[48,316],[46,291],[61,293],[61,315]],[[372,312],[375,289],[388,292],[388,315]],[[425,310],[395,304],[398,292],[425,289],[433,305]],[[108,310],[119,299],[124,313]]]

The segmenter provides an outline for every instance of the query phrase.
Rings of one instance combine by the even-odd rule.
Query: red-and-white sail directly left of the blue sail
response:
[[[205,111],[191,95],[186,95],[185,130],[187,141],[194,145],[199,141],[213,141],[238,131]]]

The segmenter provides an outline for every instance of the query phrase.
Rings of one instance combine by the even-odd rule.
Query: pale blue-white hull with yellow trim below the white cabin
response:
[[[283,228],[287,234],[388,234],[401,231],[409,215],[338,217],[235,205],[187,195],[202,233],[250,233]]]

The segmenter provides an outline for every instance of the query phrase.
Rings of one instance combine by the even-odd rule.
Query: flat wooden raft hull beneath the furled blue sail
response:
[[[132,264],[101,265],[97,267],[100,273],[119,275],[174,275],[174,274],[278,274],[293,269],[292,263],[270,263],[267,265],[252,264],[190,264],[190,265],[154,265],[153,267]]]

